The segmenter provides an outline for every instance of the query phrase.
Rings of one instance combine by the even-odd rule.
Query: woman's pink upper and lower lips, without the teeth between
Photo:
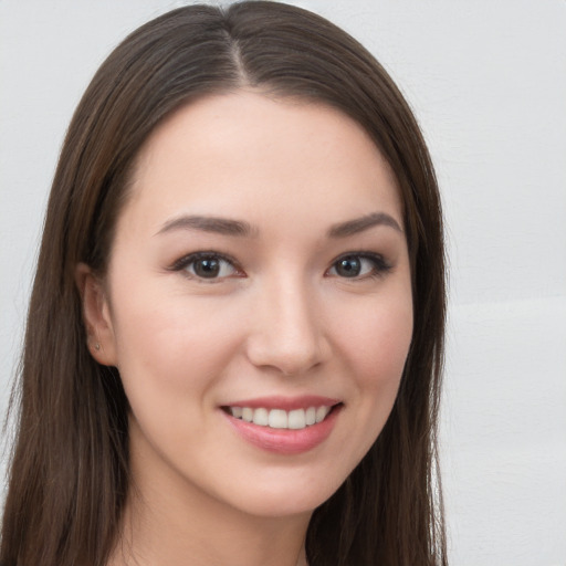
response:
[[[339,400],[319,396],[303,396],[295,398],[262,397],[230,402],[230,407],[250,407],[252,409],[263,407],[268,410],[283,409],[285,411],[323,406],[333,407],[328,416],[322,422],[298,430],[262,427],[237,419],[227,411],[222,411],[222,415],[235,432],[251,444],[272,453],[300,454],[314,449],[328,438],[343,407]]]

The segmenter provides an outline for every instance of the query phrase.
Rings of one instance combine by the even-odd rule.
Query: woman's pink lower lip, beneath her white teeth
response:
[[[237,419],[222,411],[234,430],[251,444],[276,454],[301,454],[322,444],[331,434],[342,410],[342,405],[334,407],[322,421],[304,429],[272,429],[253,422]]]

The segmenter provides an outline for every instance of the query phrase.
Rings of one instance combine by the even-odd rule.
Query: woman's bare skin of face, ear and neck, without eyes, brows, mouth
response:
[[[76,272],[91,352],[119,369],[132,406],[135,489],[112,564],[306,564],[312,512],[382,429],[410,346],[390,169],[342,113],[240,91],[163,123],[133,180],[105,277]],[[370,213],[398,228],[328,235]],[[245,221],[251,233],[171,227],[193,214]],[[202,251],[232,264],[216,279],[179,268]],[[358,258],[359,276],[337,271],[337,259],[360,251],[388,269]],[[234,432],[220,408],[274,395],[339,400],[329,437],[272,453]]]

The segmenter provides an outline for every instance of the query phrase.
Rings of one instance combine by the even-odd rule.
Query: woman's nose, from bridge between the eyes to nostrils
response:
[[[255,296],[247,353],[250,361],[283,375],[302,375],[329,356],[324,313],[298,277],[279,277]]]

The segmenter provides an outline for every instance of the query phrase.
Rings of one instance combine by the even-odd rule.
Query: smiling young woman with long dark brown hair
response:
[[[2,566],[439,565],[441,213],[410,109],[304,10],[187,7],[53,181]]]

